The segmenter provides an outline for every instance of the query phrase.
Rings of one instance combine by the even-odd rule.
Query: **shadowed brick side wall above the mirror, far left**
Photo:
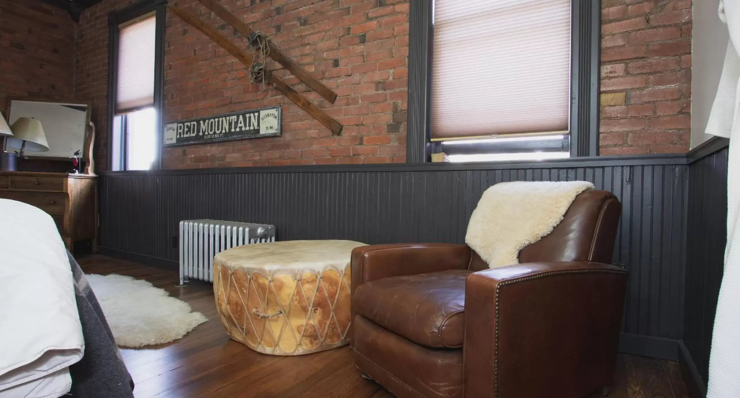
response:
[[[76,24],[41,0],[0,1],[0,110],[7,97],[71,99]]]

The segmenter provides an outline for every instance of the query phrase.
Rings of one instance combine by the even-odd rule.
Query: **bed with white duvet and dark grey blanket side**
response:
[[[84,274],[44,211],[0,199],[0,398],[132,397]]]

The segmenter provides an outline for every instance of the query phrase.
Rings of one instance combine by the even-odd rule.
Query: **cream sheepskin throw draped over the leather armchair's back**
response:
[[[465,243],[489,268],[519,264],[519,250],[547,236],[591,182],[502,182],[473,210]]]

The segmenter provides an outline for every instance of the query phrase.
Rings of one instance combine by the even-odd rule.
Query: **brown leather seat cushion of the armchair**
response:
[[[460,348],[469,273],[449,270],[366,282],[355,290],[352,305],[358,315],[414,343]]]

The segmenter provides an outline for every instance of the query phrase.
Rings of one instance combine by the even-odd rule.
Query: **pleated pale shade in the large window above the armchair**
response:
[[[433,138],[568,131],[571,0],[434,4]]]

